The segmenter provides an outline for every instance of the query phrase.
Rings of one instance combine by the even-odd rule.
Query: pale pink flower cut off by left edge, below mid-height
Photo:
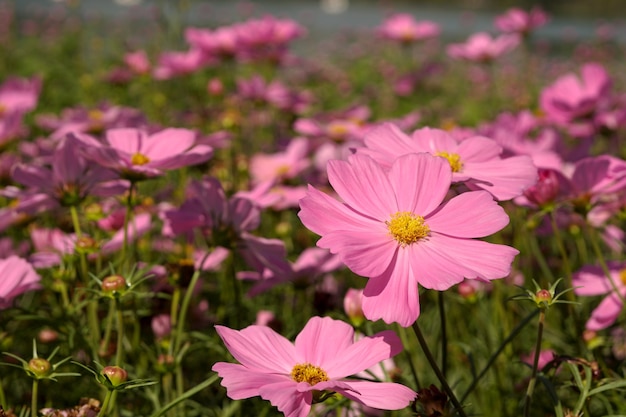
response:
[[[15,255],[0,259],[0,309],[11,306],[13,299],[26,291],[39,289],[41,277],[31,264]]]

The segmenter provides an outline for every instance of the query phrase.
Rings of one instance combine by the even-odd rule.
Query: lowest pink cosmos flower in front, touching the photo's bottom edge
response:
[[[218,362],[212,368],[234,400],[258,395],[286,417],[306,417],[323,391],[384,410],[402,409],[416,396],[397,383],[348,378],[402,350],[392,331],[355,341],[354,329],[347,323],[313,317],[292,344],[266,326],[215,329],[239,361]]]

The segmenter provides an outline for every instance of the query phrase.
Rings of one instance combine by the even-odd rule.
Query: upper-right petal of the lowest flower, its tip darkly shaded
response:
[[[334,360],[322,368],[331,379],[344,378],[371,368],[402,351],[402,341],[391,330],[359,339],[343,350],[336,350]]]

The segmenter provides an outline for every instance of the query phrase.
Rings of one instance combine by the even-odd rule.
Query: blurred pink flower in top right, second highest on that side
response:
[[[473,62],[490,62],[515,49],[520,43],[517,35],[500,35],[492,38],[486,32],[471,35],[465,43],[448,45],[447,52],[452,58]]]

